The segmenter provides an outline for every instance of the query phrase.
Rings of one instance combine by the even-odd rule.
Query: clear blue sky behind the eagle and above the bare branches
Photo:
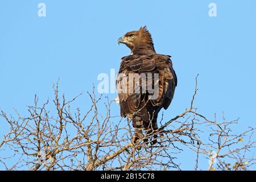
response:
[[[40,2],[46,4],[46,17],[38,16]],[[208,16],[210,2],[217,5],[217,17]],[[99,73],[117,72],[120,58],[129,55],[127,47],[118,46],[118,38],[147,25],[156,52],[172,56],[178,77],[166,118],[189,106],[199,73],[200,113],[240,118],[237,131],[256,127],[255,7],[254,0],[2,0],[0,110],[13,113],[14,107],[26,115],[34,94],[42,101],[53,98],[52,84],[58,78],[68,98],[91,91]],[[7,125],[2,118],[0,122],[1,139]]]

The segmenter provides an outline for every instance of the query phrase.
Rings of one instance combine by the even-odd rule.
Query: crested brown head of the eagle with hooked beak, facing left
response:
[[[137,31],[127,32],[118,39],[118,44],[126,44],[131,49],[131,54],[135,53],[155,53],[154,43],[147,27],[141,27]]]

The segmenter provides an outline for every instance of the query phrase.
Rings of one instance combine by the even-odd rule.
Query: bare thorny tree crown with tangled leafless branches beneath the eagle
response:
[[[53,85],[54,111],[49,111],[46,101],[28,106],[28,117],[16,116],[1,111],[9,123],[10,132],[0,142],[0,168],[6,170],[180,170],[177,154],[185,148],[195,152],[195,170],[247,170],[255,164],[248,152],[254,147],[254,128],[234,134],[232,126],[238,120],[222,121],[208,119],[197,112],[194,106],[196,88],[189,109],[170,119],[160,121],[158,130],[144,135],[137,143],[131,142],[134,135],[130,121],[112,116],[113,101],[87,93],[90,109],[72,110],[73,101],[59,95],[58,82]],[[88,102],[87,102],[88,103]],[[104,105],[105,112],[98,109]],[[201,137],[204,132],[209,137]],[[154,135],[158,142],[150,144]],[[204,135],[205,136],[205,135]],[[144,139],[149,139],[144,142]],[[6,154],[6,152],[5,152]],[[200,167],[200,159],[208,158],[208,168]]]

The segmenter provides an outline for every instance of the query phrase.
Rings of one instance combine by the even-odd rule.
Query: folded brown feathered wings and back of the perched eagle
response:
[[[133,113],[138,110],[141,113],[147,113],[145,106],[148,104],[152,105],[152,107],[159,106],[167,109],[172,101],[177,85],[177,78],[172,68],[170,57],[171,56],[154,54],[130,55],[122,58],[116,82],[122,117],[133,115]],[[145,81],[143,82],[142,80],[146,80],[143,73],[146,75],[147,79],[150,78],[148,73],[151,73],[152,83],[159,85],[159,89],[157,90],[158,95],[155,99],[149,100],[151,94],[148,92],[150,92],[150,90],[143,92],[142,88],[147,88],[146,85],[143,85]],[[158,73],[159,77],[154,77],[154,73]],[[141,79],[138,81],[135,78],[129,78],[129,75],[134,74],[135,77],[140,75]],[[129,85],[133,86],[129,87]],[[129,90],[129,88],[133,88],[133,90]],[[126,90],[126,92],[123,92],[123,90]],[[146,120],[147,117],[144,119]]]

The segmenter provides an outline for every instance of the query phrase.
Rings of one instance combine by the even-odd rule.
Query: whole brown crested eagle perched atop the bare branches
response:
[[[147,141],[144,130],[146,135],[154,135],[152,143],[156,143],[158,113],[171,104],[177,86],[171,56],[156,53],[146,26],[127,32],[118,39],[120,43],[131,50],[122,57],[116,80],[121,117],[133,122],[133,142]]]

